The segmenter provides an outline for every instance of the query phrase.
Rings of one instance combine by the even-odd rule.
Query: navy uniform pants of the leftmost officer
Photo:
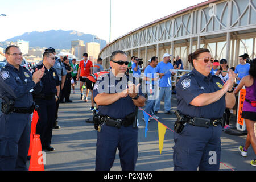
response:
[[[27,170],[30,114],[0,114],[0,171]]]

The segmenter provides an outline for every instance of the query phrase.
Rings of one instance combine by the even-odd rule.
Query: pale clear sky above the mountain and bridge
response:
[[[205,0],[112,0],[111,40]],[[0,41],[31,31],[76,30],[109,41],[110,0],[1,1]]]

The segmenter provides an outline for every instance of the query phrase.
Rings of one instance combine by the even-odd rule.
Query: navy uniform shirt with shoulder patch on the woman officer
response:
[[[177,82],[177,110],[190,117],[221,118],[226,108],[225,94],[220,100],[206,106],[196,107],[189,103],[200,94],[216,92],[222,86],[220,77],[212,74],[204,76],[193,69]]]

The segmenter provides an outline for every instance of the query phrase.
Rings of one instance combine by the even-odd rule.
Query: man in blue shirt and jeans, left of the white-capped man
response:
[[[155,101],[158,96],[158,74],[156,73],[156,66],[158,65],[158,57],[154,56],[151,58],[150,64],[146,67],[144,71],[144,80],[146,80],[147,85],[147,104],[145,111],[152,117],[159,119],[158,116],[154,115]],[[149,118],[153,119],[153,118]]]

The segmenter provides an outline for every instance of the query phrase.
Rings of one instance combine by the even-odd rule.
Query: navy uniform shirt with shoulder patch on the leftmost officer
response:
[[[30,107],[33,102],[32,93],[42,89],[40,84],[35,84],[31,73],[21,66],[18,70],[7,63],[0,71],[0,96],[14,100],[14,107]]]

